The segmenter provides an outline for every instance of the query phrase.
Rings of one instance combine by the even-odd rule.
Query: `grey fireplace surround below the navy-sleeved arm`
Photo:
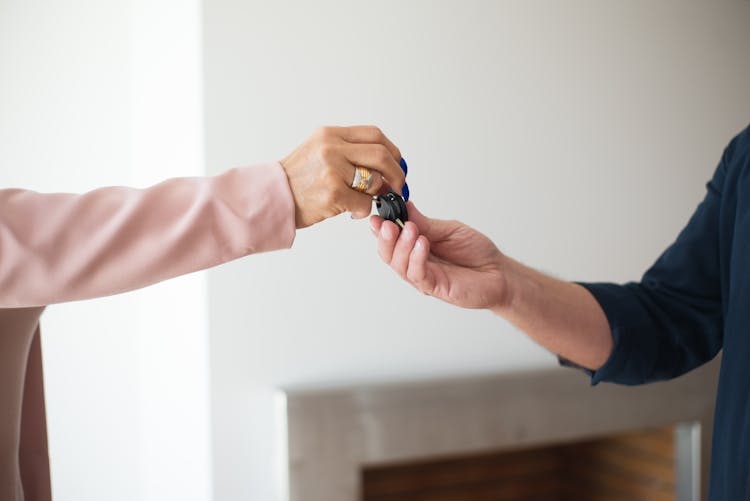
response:
[[[335,388],[288,388],[291,501],[355,501],[365,466],[561,444],[680,424],[678,499],[705,488],[718,360],[639,387],[570,369]]]

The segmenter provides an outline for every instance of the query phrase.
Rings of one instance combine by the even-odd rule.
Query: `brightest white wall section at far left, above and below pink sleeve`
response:
[[[0,0],[0,186],[203,172],[200,5]],[[50,307],[56,501],[211,496],[205,281]]]

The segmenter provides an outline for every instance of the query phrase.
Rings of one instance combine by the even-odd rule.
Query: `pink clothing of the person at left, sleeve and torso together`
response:
[[[50,500],[40,488],[49,482],[46,437],[21,436],[22,428],[31,432],[44,423],[43,388],[34,383],[41,381],[41,364],[31,347],[45,305],[117,294],[288,248],[294,208],[278,163],[147,189],[0,190],[0,499],[22,501],[23,478],[38,479],[26,501]],[[25,383],[33,391],[24,393]]]

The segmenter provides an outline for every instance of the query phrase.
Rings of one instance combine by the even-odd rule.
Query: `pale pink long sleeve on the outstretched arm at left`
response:
[[[0,190],[0,308],[117,294],[288,248],[294,212],[278,163],[147,189]]]

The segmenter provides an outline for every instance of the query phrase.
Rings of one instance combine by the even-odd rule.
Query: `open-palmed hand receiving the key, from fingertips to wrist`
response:
[[[457,221],[430,219],[407,203],[398,227],[370,218],[380,258],[417,290],[463,308],[500,307],[505,301],[504,256],[492,241]]]

